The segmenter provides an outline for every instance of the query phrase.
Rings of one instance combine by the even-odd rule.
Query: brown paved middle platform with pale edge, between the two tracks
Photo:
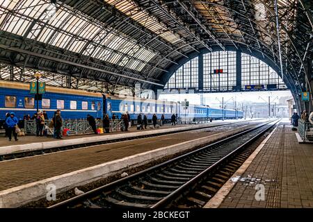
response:
[[[216,121],[211,125],[220,126],[221,123],[226,122]],[[206,128],[3,161],[0,162],[0,207],[17,207],[28,200],[42,198],[47,192],[46,186],[51,183],[56,185],[58,192],[72,189],[120,170],[208,144],[259,123],[223,130]]]

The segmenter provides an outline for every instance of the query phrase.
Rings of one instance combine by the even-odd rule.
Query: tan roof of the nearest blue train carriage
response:
[[[1,88],[9,88],[9,89],[29,90],[29,83],[17,83],[17,82],[0,80],[0,87]],[[54,92],[54,93],[61,93],[61,94],[73,94],[73,95],[79,95],[79,96],[102,97],[102,94],[97,93],[97,92],[87,92],[87,91],[83,91],[81,89],[67,89],[67,88],[52,87],[52,86],[47,86],[47,85],[46,85],[46,92]]]

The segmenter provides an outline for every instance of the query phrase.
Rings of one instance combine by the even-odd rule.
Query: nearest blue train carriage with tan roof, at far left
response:
[[[102,118],[102,94],[80,89],[46,86],[46,93],[39,101],[39,110],[46,110],[49,119],[61,110],[63,119],[86,119],[87,114]],[[0,117],[15,112],[18,119],[25,114],[32,117],[37,110],[34,94],[29,93],[29,83],[0,81]]]

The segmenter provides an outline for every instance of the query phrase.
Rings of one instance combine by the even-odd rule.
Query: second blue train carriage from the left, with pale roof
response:
[[[158,119],[161,119],[162,114],[166,119],[170,119],[173,113],[177,113],[177,103],[175,102],[110,94],[104,94],[104,97],[106,98],[106,113],[110,118],[115,114],[120,119],[122,114],[128,112],[132,123],[136,123],[139,113],[146,114],[148,120],[152,119],[154,113],[157,114]]]

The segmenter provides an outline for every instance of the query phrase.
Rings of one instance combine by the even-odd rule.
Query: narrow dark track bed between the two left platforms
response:
[[[24,157],[32,157],[35,155],[43,155],[46,153],[56,153],[56,152],[60,152],[60,151],[67,151],[67,150],[72,150],[75,148],[86,148],[89,146],[97,146],[97,145],[102,145],[102,144],[112,144],[115,142],[123,142],[123,141],[142,139],[142,138],[147,138],[147,137],[157,137],[157,136],[161,136],[161,135],[170,135],[170,134],[174,134],[174,133],[184,133],[184,132],[188,132],[188,131],[204,130],[206,128],[209,128],[211,130],[229,130],[233,126],[238,127],[238,126],[244,126],[246,124],[247,124],[246,121],[243,121],[243,122],[239,122],[239,123],[225,123],[225,124],[221,124],[219,126],[203,126],[203,127],[196,128],[196,129],[179,130],[179,128],[177,128],[177,130],[172,131],[172,132],[167,132],[167,133],[154,133],[152,135],[140,135],[140,136],[136,136],[136,137],[126,137],[126,138],[120,138],[120,139],[108,139],[108,140],[104,140],[104,141],[100,141],[100,142],[90,142],[88,144],[74,144],[74,145],[62,146],[62,147],[56,147],[56,148],[38,149],[36,151],[22,151],[22,152],[3,154],[3,155],[0,154],[0,162],[6,161],[6,160],[14,160],[14,159],[18,159],[18,158],[24,158]]]

